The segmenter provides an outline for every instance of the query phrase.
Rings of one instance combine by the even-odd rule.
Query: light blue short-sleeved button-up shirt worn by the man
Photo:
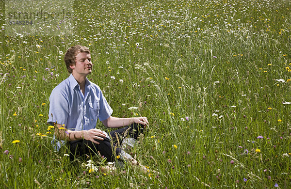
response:
[[[70,130],[95,128],[97,120],[106,120],[113,112],[99,86],[86,79],[84,95],[71,74],[49,96],[48,123],[65,125]]]

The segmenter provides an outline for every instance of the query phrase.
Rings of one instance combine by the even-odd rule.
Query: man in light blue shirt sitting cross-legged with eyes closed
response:
[[[111,116],[113,110],[100,88],[87,79],[93,68],[87,47],[70,47],[64,60],[70,76],[50,94],[48,123],[55,126],[57,139],[67,141],[70,159],[100,154],[113,162],[120,157],[146,172],[119,144],[126,137],[136,140],[148,124],[147,118]],[[110,133],[97,129],[98,119],[106,127],[119,129]]]

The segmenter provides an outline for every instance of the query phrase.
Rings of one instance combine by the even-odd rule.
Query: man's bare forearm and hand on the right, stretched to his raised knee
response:
[[[133,123],[147,125],[148,121],[146,117],[119,118],[110,116],[106,120],[102,121],[102,123],[106,127],[117,128],[121,126],[129,126]]]

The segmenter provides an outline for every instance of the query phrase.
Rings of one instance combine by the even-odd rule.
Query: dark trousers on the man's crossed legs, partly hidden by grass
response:
[[[139,134],[143,133],[143,131],[143,125],[132,124],[111,131],[108,133],[109,138],[105,138],[103,141],[97,140],[100,144],[87,140],[70,141],[68,142],[70,160],[83,155],[98,155],[99,152],[101,156],[106,157],[107,161],[113,162],[115,161],[114,155],[116,154],[116,156],[118,156],[121,152],[119,144],[122,143],[122,140],[127,137],[137,139]]]

